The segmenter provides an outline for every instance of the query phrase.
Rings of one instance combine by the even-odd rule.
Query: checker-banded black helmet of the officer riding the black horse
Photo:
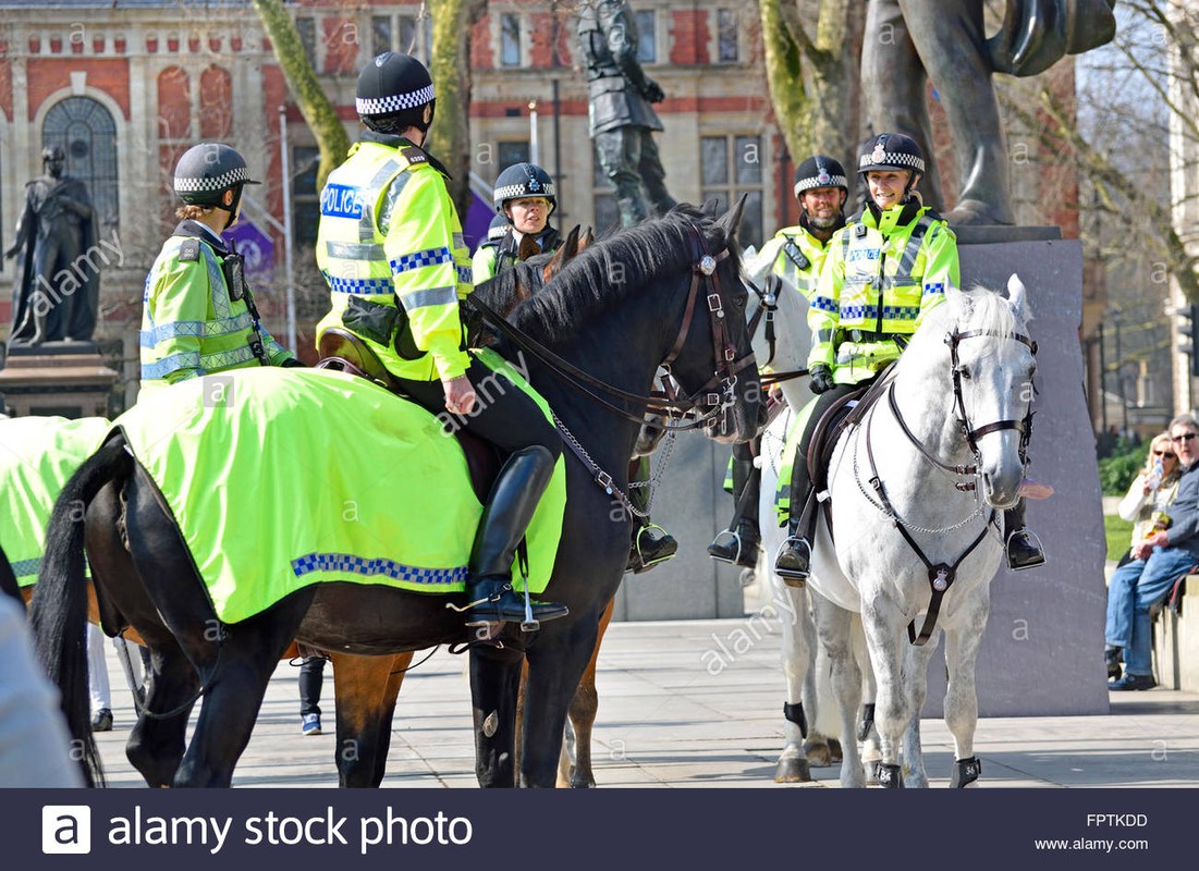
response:
[[[384,52],[359,73],[354,107],[362,122],[379,133],[409,127],[427,133],[436,108],[433,78],[416,58]]]

